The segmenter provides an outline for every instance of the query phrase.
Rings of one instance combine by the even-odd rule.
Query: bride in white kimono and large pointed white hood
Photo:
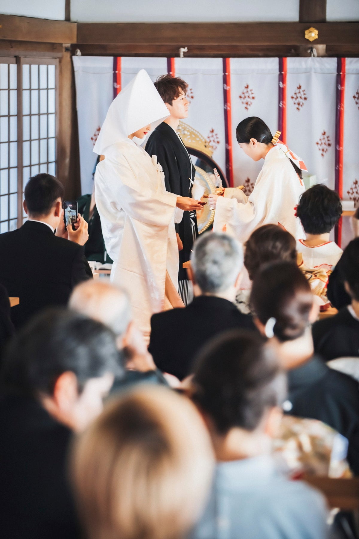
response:
[[[105,156],[95,173],[96,207],[111,280],[131,298],[133,320],[148,340],[153,313],[184,307],[177,292],[178,246],[174,223],[184,210],[201,209],[189,197],[165,189],[157,157],[133,140],[143,139],[168,116],[146,71],[112,101],[94,151]]]

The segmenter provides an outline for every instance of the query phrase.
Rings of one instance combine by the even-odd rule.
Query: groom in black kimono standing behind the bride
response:
[[[191,196],[195,168],[184,143],[177,133],[179,121],[187,118],[189,101],[187,83],[171,74],[162,75],[154,83],[171,116],[160,123],[146,144],[148,154],[157,155],[165,174],[166,190],[175,195]],[[193,288],[183,262],[189,260],[193,243],[198,236],[196,212],[185,211],[181,223],[175,225],[179,250],[178,292],[185,305],[193,299]]]

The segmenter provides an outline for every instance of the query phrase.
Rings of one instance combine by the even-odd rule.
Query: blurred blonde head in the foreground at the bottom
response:
[[[187,398],[150,386],[128,393],[74,447],[88,537],[183,537],[205,503],[212,468],[207,430]]]

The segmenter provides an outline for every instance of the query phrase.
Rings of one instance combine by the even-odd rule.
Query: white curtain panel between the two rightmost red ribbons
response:
[[[334,189],[336,58],[288,58],[287,72],[287,144]]]

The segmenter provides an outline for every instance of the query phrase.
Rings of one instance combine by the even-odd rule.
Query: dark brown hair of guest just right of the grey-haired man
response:
[[[251,233],[244,251],[244,266],[249,278],[266,262],[297,262],[296,242],[292,234],[278,225],[263,225]]]

